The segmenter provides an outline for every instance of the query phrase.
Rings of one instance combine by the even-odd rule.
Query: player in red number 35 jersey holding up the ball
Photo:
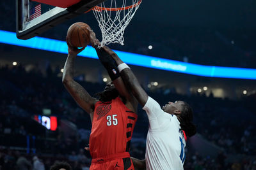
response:
[[[134,169],[129,148],[132,132],[137,120],[138,101],[125,88],[115,62],[109,62],[111,55],[116,55],[107,46],[97,48],[99,40],[90,34],[92,46],[95,48],[100,62],[106,67],[113,82],[108,83],[104,91],[95,99],[74,81],[74,60],[84,48],[78,49],[68,45],[68,57],[63,71],[63,84],[77,104],[86,111],[92,121],[90,135],[90,153],[92,165],[90,169]]]

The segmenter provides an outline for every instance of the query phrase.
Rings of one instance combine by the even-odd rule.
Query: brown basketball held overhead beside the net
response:
[[[90,43],[90,26],[76,22],[68,28],[67,39],[71,46],[86,47]]]

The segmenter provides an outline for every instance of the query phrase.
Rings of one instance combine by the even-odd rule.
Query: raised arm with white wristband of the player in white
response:
[[[111,56],[118,65],[118,69],[120,70],[120,74],[124,80],[125,85],[128,87],[128,89],[131,89],[133,96],[136,97],[141,106],[145,106],[148,100],[148,94],[141,87],[136,76],[132,73],[129,67],[124,67],[126,64],[118,57],[118,55],[115,54]]]

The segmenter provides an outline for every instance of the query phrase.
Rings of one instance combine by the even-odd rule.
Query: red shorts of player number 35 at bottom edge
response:
[[[92,159],[90,170],[134,170],[129,152]]]

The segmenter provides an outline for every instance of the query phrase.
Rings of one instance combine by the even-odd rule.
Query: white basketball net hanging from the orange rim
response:
[[[108,0],[95,6],[93,13],[102,32],[99,47],[109,43],[124,45],[125,28],[138,10],[140,3],[141,0]]]

